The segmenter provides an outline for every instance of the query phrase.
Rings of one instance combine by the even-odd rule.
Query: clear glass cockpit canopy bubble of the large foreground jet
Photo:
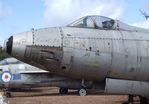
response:
[[[113,29],[115,20],[103,16],[86,16],[69,24],[71,27]]]

